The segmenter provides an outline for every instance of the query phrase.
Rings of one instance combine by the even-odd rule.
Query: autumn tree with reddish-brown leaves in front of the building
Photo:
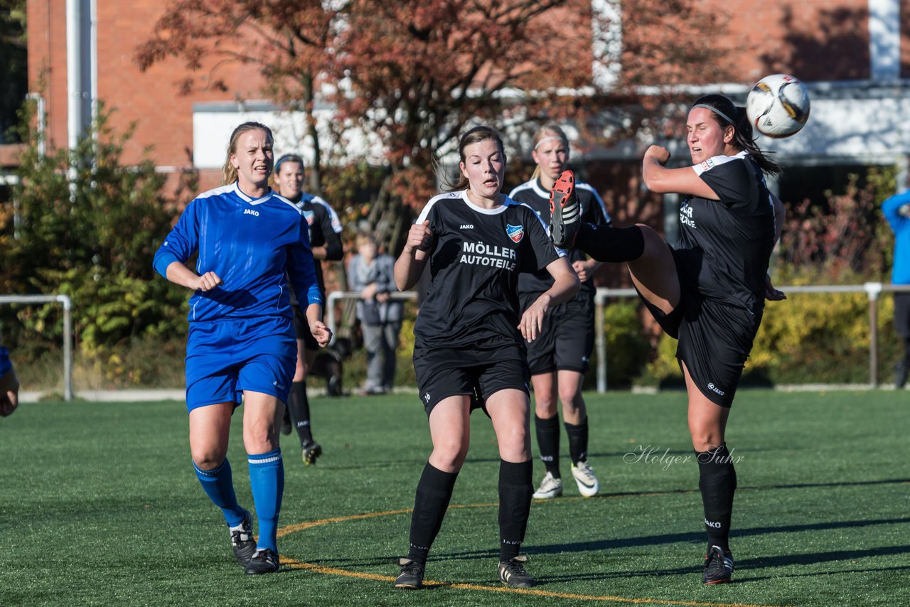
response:
[[[404,207],[437,191],[434,161],[466,126],[571,119],[589,142],[659,131],[656,110],[678,95],[668,86],[723,80],[722,22],[694,0],[625,0],[615,14],[582,0],[177,0],[137,57],[255,62],[280,100],[301,100],[314,146],[321,90],[339,148],[346,135],[381,142],[387,177],[369,223],[394,249]]]

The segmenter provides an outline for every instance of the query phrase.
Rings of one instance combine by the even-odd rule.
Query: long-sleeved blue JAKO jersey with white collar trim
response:
[[[155,269],[167,278],[167,266],[186,263],[196,252],[196,273],[215,272],[223,284],[189,299],[191,322],[290,318],[285,272],[299,301],[322,303],[307,222],[298,207],[271,190],[253,199],[234,183],[200,194],[158,248]]]

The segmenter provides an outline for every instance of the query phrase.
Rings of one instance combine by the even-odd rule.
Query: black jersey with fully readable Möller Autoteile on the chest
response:
[[[417,222],[428,219],[432,280],[414,326],[415,346],[523,344],[519,273],[561,257],[534,211],[509,197],[501,207],[478,207],[463,190],[431,198]]]

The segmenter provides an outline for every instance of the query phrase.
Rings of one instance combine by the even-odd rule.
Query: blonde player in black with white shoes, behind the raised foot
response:
[[[533,143],[531,157],[537,164],[534,175],[530,181],[513,189],[509,197],[533,208],[549,226],[550,190],[569,163],[569,139],[560,126],[551,124],[541,126]],[[610,215],[593,187],[576,182],[575,192],[581,205],[582,221],[610,225]],[[581,289],[575,298],[547,311],[541,337],[528,344],[528,367],[534,387],[534,428],[546,468],[541,486],[533,496],[536,500],[548,500],[562,494],[557,399],[562,401],[571,473],[578,491],[585,497],[600,491],[600,483],[588,464],[588,412],[581,385],[594,345],[594,284],[591,278],[601,263],[587,258],[578,248],[570,248],[566,254],[581,280]],[[552,282],[547,272],[521,274],[518,280],[521,309],[528,309]]]

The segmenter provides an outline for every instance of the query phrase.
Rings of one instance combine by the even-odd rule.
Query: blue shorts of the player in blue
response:
[[[219,319],[189,323],[187,410],[233,402],[243,390],[288,401],[297,364],[291,319]]]

